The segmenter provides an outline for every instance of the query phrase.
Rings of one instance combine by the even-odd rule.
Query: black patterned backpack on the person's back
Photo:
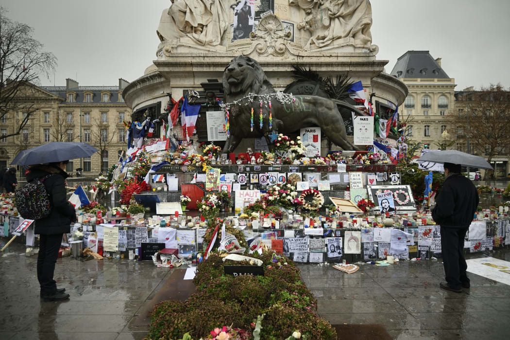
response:
[[[36,178],[16,190],[16,208],[25,220],[39,220],[50,213],[49,195],[44,180],[52,175]]]

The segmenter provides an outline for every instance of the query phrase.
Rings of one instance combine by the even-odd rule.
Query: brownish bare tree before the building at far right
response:
[[[455,127],[457,141],[467,143],[469,153],[480,153],[490,162],[495,156],[508,155],[510,144],[510,91],[501,84],[456,94]],[[468,126],[469,119],[469,126]],[[483,154],[483,155],[481,155]]]

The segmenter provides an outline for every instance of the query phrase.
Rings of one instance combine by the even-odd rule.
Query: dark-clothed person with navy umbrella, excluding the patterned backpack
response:
[[[86,143],[52,142],[22,151],[12,162],[32,165],[25,173],[27,182],[38,179],[48,194],[49,214],[38,218],[34,229],[34,233],[40,235],[37,279],[41,287],[41,299],[44,301],[69,298],[65,288],[57,288],[53,278],[62,236],[69,233],[70,224],[78,220],[74,206],[67,201],[67,163],[69,159],[89,157],[95,152],[97,149]]]

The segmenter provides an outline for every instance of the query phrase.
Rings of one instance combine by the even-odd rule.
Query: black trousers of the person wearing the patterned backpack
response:
[[[37,279],[41,285],[41,295],[57,293],[57,283],[53,279],[55,263],[63,234],[39,235],[39,256],[37,257]]]

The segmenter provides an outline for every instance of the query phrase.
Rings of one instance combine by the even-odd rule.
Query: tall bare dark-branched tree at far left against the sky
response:
[[[10,137],[19,135],[37,110],[34,85],[55,70],[57,58],[42,50],[30,26],[10,20],[6,12],[0,7],[0,119],[9,112],[23,113],[20,120],[12,120],[14,132],[5,136]]]

